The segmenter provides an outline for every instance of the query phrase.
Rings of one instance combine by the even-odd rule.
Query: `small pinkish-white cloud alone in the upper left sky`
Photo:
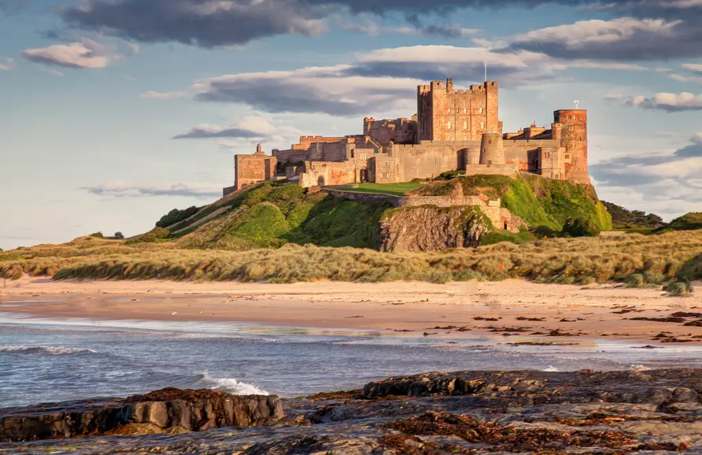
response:
[[[27,60],[65,68],[104,68],[110,62],[107,48],[91,39],[79,43],[54,44],[45,48],[26,49],[20,54]]]

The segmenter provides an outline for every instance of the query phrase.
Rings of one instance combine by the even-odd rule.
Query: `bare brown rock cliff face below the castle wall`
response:
[[[440,251],[479,245],[489,232],[472,206],[396,209],[380,220],[380,251]]]

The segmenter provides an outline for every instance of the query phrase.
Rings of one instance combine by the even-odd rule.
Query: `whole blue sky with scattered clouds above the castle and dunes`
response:
[[[702,211],[701,43],[702,0],[0,0],[0,248],[145,232],[484,61],[505,131],[588,110],[601,199]]]

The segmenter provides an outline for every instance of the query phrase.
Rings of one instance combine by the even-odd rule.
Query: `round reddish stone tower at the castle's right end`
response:
[[[590,184],[588,174],[588,111],[578,109],[553,112],[553,138],[565,149],[565,178]]]

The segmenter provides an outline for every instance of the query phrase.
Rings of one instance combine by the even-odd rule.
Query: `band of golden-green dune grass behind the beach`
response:
[[[0,253],[0,276],[54,279],[192,279],[263,282],[343,282],[522,277],[537,282],[628,282],[635,274],[657,281],[702,279],[702,230],[609,237],[501,242],[433,253],[380,253],[351,247],[286,244],[241,253],[185,249],[176,244],[133,244],[81,237]]]

